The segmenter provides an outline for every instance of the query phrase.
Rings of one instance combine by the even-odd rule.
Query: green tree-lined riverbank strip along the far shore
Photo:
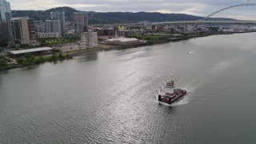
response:
[[[178,42],[182,40],[188,40],[190,38],[202,38],[207,37],[210,35],[218,35],[220,33],[207,33],[207,34],[184,34],[182,38],[179,38],[178,40],[171,41],[170,38],[166,37],[152,37],[152,36],[146,36],[142,37],[140,39],[150,39],[150,42],[147,42],[144,45],[141,46],[152,46],[157,44],[164,44],[168,42]],[[222,33],[227,34],[227,33]],[[230,34],[230,33],[228,33]],[[232,33],[235,34],[235,33]],[[138,38],[138,36],[135,36],[134,38]],[[68,60],[72,59],[74,56],[77,56],[79,54],[91,54],[91,53],[97,53],[100,51],[110,51],[110,50],[126,50],[130,48],[136,48],[141,46],[134,46],[134,45],[126,45],[126,46],[111,46],[111,45],[105,45],[105,44],[99,44],[97,48],[88,48],[86,50],[77,50],[77,51],[70,51],[66,53],[54,53],[52,55],[42,55],[42,56],[33,56],[31,54],[25,56],[24,58],[20,58],[15,63],[9,64],[8,62],[4,62],[2,58],[0,58],[0,70],[10,70],[14,68],[19,68],[23,66],[31,66],[31,65],[38,65],[40,63],[44,62],[56,62],[56,61],[62,61],[62,60]]]

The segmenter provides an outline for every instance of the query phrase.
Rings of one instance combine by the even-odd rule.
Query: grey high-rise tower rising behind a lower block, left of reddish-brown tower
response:
[[[64,11],[50,12],[50,18],[51,20],[60,20],[61,34],[63,35],[66,32],[65,12]]]

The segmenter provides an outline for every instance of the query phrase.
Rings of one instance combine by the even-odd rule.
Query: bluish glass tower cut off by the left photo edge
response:
[[[0,41],[11,39],[10,18],[10,2],[0,0]]]

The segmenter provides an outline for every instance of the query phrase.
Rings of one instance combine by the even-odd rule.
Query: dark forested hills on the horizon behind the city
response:
[[[30,17],[34,20],[46,20],[50,19],[51,11],[65,11],[66,21],[73,21],[73,13],[78,12],[70,7],[57,7],[50,10],[12,10],[12,17]],[[162,14],[162,13],[147,13],[147,12],[108,12],[99,13],[89,11],[89,23],[90,24],[107,24],[107,23],[123,23],[123,22],[165,22],[165,21],[193,21],[202,19],[203,17],[197,17],[188,14]]]

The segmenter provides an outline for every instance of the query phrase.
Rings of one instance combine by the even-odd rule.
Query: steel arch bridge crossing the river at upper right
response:
[[[246,4],[239,4],[239,5],[234,5],[234,6],[228,6],[226,8],[223,8],[221,10],[217,10],[212,14],[209,14],[205,18],[198,20],[198,21],[177,21],[177,22],[154,22],[154,24],[167,24],[174,30],[178,31],[179,33],[190,33],[191,29],[196,28],[199,24],[210,24],[210,23],[230,23],[230,24],[252,24],[256,25],[256,20],[209,20],[212,16],[221,13],[222,11],[225,10],[230,10],[235,7],[242,7],[242,6],[256,6],[256,3],[246,3]],[[190,30],[188,28],[188,25],[190,25]],[[178,27],[182,27],[182,30],[180,30]]]

